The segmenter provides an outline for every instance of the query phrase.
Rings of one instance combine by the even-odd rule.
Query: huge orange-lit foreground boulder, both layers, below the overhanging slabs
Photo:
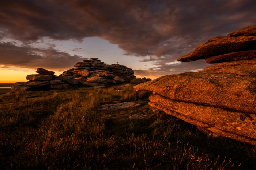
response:
[[[149,104],[204,132],[256,145],[256,60],[219,63],[135,86]]]

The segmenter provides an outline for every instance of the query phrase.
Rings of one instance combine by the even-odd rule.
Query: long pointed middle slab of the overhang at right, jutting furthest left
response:
[[[189,62],[225,53],[256,49],[256,36],[225,37],[216,41],[200,44],[190,55],[178,61]]]

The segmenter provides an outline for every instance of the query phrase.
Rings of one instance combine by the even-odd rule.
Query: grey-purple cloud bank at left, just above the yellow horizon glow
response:
[[[74,63],[83,60],[80,56],[60,52],[53,48],[39,49],[30,46],[16,46],[13,43],[0,44],[0,63],[26,68],[69,69]]]

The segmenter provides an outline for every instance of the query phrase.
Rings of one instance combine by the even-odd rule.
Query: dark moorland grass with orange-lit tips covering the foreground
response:
[[[128,119],[149,92],[133,86],[0,96],[0,169],[255,169],[255,146],[211,137],[156,110]],[[101,104],[136,102],[101,111]]]

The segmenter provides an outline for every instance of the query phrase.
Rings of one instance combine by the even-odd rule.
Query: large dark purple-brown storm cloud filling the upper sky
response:
[[[256,24],[255,0],[0,2],[0,39],[10,37],[28,45],[42,37],[82,41],[98,36],[118,44],[126,55],[149,56],[147,60],[155,61],[160,69],[173,67],[165,63],[212,36]]]

